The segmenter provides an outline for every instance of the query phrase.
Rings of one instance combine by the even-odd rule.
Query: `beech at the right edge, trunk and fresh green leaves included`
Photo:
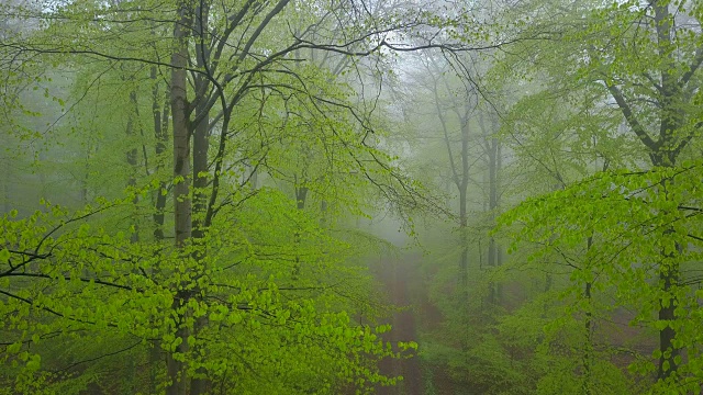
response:
[[[598,161],[603,167],[598,169],[590,166],[591,171],[601,172],[588,181],[579,181],[583,176],[578,174],[569,180],[563,173],[557,172],[558,168],[551,166],[549,160],[545,160],[547,153],[525,150],[566,191],[539,199],[546,204],[556,204],[547,212],[537,208],[542,203],[534,205],[534,202],[529,202],[515,211],[520,213],[517,217],[506,218],[524,221],[525,232],[531,239],[544,244],[538,259],[555,259],[571,267],[570,282],[582,290],[585,287],[579,300],[585,303],[592,301],[593,292],[606,295],[615,292],[618,303],[636,308],[638,314],[633,318],[633,324],[643,323],[658,331],[659,347],[654,352],[657,360],[656,377],[659,381],[657,391],[690,391],[690,387],[684,390],[687,385],[680,383],[693,381],[691,375],[698,374],[685,362],[687,358],[695,358],[698,346],[683,340],[687,335],[682,328],[688,325],[684,323],[691,323],[691,317],[683,313],[681,306],[687,305],[694,293],[690,285],[695,280],[691,280],[691,274],[685,272],[689,270],[687,262],[691,261],[689,255],[694,253],[689,247],[695,247],[691,245],[692,240],[684,241],[673,236],[676,232],[670,226],[679,219],[669,222],[665,218],[685,216],[679,205],[688,206],[690,202],[673,201],[679,199],[679,192],[693,192],[690,185],[682,189],[674,185],[676,182],[685,184],[683,179],[688,176],[681,178],[672,174],[690,174],[685,169],[695,167],[678,163],[683,158],[690,158],[696,149],[693,147],[698,146],[700,132],[700,111],[690,105],[698,94],[698,70],[702,60],[699,5],[667,1],[648,4],[626,2],[612,7],[599,5],[594,11],[590,10],[592,4],[588,2],[533,5],[538,7],[531,9],[531,5],[526,5],[522,11],[535,19],[550,19],[543,24],[536,23],[535,29],[554,26],[555,15],[559,15],[562,23],[556,24],[558,42],[553,43],[557,45],[545,44],[545,50],[534,52],[532,59],[540,67],[527,66],[525,69],[539,70],[543,76],[547,75],[547,78],[571,90],[571,93],[561,97],[567,100],[572,98],[573,102],[569,102],[569,105],[582,109],[577,111],[585,112],[589,117],[584,120],[591,119],[591,114],[599,114],[601,120],[593,124],[595,127],[576,128],[574,142],[585,143],[592,138],[591,144],[580,143],[580,146],[591,149],[593,155],[590,158],[600,157]],[[565,66],[570,68],[565,69]],[[584,94],[573,97],[571,94],[574,91]],[[535,100],[539,95],[549,98],[555,94],[545,90],[528,98]],[[524,119],[524,111],[515,114]],[[606,133],[602,134],[599,129]],[[563,157],[562,153],[555,155],[551,149],[548,153],[550,155],[546,159]],[[572,153],[571,158],[579,157],[574,150]],[[669,176],[661,176],[665,173]],[[643,183],[643,193],[634,187],[636,182]],[[581,194],[583,200],[569,198]],[[622,200],[628,208],[621,207],[620,214],[616,210],[611,211],[612,206],[620,204],[613,200]],[[605,204],[610,207],[606,208]],[[651,221],[659,225],[636,219],[632,211],[639,210],[639,204],[649,207]],[[574,205],[579,211],[578,221],[571,216]],[[538,212],[548,214],[543,217]],[[620,226],[624,226],[622,232],[616,230]],[[542,236],[533,238],[533,232]],[[632,241],[655,234],[657,236],[654,239]],[[551,258],[542,255],[546,251],[554,253]],[[560,255],[560,258],[556,258]],[[618,276],[625,272],[632,276]],[[609,308],[600,306],[602,311],[599,312],[588,303],[582,308],[587,336],[591,339],[592,317]],[[651,318],[652,313],[658,319]],[[680,356],[684,349],[687,358]],[[687,368],[682,368],[681,363]],[[644,364],[640,368],[644,374],[651,371],[651,365]],[[582,373],[587,374],[588,369]],[[595,387],[584,386],[585,390],[596,391]]]

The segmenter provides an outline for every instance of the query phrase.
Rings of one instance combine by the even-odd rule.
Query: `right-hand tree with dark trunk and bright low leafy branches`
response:
[[[672,170],[673,173],[685,172],[684,169],[688,167],[682,168],[677,162],[680,158],[689,155],[687,151],[690,153],[691,145],[696,144],[695,137],[700,129],[700,112],[696,108],[688,104],[690,98],[696,94],[698,69],[702,60],[701,36],[695,27],[700,26],[698,5],[691,3],[674,5],[660,1],[646,5],[627,2],[603,7],[592,12],[587,11],[590,4],[585,2],[574,2],[567,7],[555,4],[554,8],[544,8],[543,5],[539,4],[539,10],[551,12],[548,18],[553,21],[537,25],[539,26],[537,29],[545,29],[544,26],[547,24],[554,25],[555,14],[561,14],[562,22],[558,25],[558,32],[559,44],[563,50],[555,52],[551,46],[545,46],[547,50],[535,53],[533,58],[538,59],[543,65],[550,65],[553,70],[558,69],[557,61],[563,65],[565,59],[569,59],[571,65],[576,65],[576,71],[567,70],[560,80],[568,87],[574,84],[577,89],[594,93],[587,97],[588,101],[582,102],[583,108],[604,108],[607,101],[616,106],[620,114],[612,120],[616,123],[624,123],[627,134],[618,132],[620,135],[613,140],[618,145],[611,146],[612,148],[609,150],[612,151],[615,147],[617,147],[616,149],[623,147],[627,150],[627,142],[634,140],[639,145],[639,148],[634,149],[638,156],[635,156],[632,161],[620,163],[609,162],[610,159],[606,159],[606,163],[610,165],[610,168],[616,169],[634,168],[629,172],[624,172],[633,173],[633,179],[651,185],[645,188],[646,193],[641,199],[647,203],[644,204],[648,204],[648,207],[651,207],[649,210],[656,212],[654,217],[662,221],[660,224],[671,224],[669,219],[665,218],[679,217],[681,215],[678,208],[679,204],[687,205],[681,202],[673,203],[679,199],[678,192],[670,191],[681,190],[671,182],[674,179],[677,182],[685,182],[680,181],[679,177],[661,177],[660,174],[670,171],[662,168],[677,168],[678,170]],[[539,15],[535,10],[537,9],[529,11],[534,12],[532,15]],[[643,50],[641,48],[647,49]],[[554,57],[550,57],[553,55]],[[542,70],[548,69],[543,68]],[[615,126],[611,127],[611,131],[616,131]],[[588,133],[583,136],[588,137]],[[531,155],[538,156],[539,154],[533,150]],[[609,155],[609,157],[622,159],[622,156]],[[649,165],[646,163],[645,158]],[[540,162],[544,163],[542,160]],[[620,174],[617,171],[615,173]],[[659,385],[673,385],[677,381],[685,381],[683,377],[692,373],[688,369],[677,373],[679,364],[683,361],[679,356],[679,350],[683,348],[683,343],[687,343],[685,341],[679,342],[687,336],[677,332],[680,328],[679,325],[685,327],[683,323],[689,321],[680,306],[685,304],[683,301],[688,300],[693,292],[690,289],[687,290],[689,280],[683,280],[681,274],[681,266],[685,266],[684,262],[689,261],[688,255],[691,253],[684,247],[689,242],[681,239],[674,240],[676,237],[672,234],[676,232],[668,227],[670,225],[665,225],[663,229],[660,227],[652,229],[654,225],[648,221],[637,222],[633,219],[634,216],[631,218],[626,215],[618,217],[610,208],[606,211],[602,206],[605,198],[599,196],[609,196],[605,200],[612,205],[615,203],[610,199],[621,199],[624,202],[629,202],[633,206],[639,204],[639,201],[633,199],[638,192],[632,183],[637,181],[627,180],[625,176],[614,180],[609,177],[609,173],[605,172],[595,176],[595,179],[609,180],[603,182],[610,183],[610,185],[598,184],[594,187],[591,182],[573,185],[569,182],[563,183],[568,191],[566,195],[557,193],[554,200],[545,196],[546,201],[561,202],[561,205],[549,208],[555,211],[554,217],[538,219],[544,224],[549,224],[549,227],[536,226],[535,217],[527,221],[528,227],[536,226],[542,229],[540,232],[547,232],[547,234],[542,234],[538,239],[546,244],[546,250],[553,252],[569,251],[569,249],[559,247],[561,242],[559,239],[569,240],[565,242],[573,242],[576,239],[581,245],[588,245],[588,251],[594,248],[593,242],[601,244],[595,250],[610,257],[611,264],[617,266],[620,263],[622,264],[621,270],[637,273],[640,284],[643,279],[647,279],[657,285],[654,290],[646,286],[644,287],[647,290],[646,292],[638,293],[634,306],[639,309],[640,315],[636,320],[649,321],[649,325],[658,330],[659,349],[654,353],[658,359],[657,377],[660,380]],[[622,195],[616,192],[617,188],[623,189]],[[685,189],[688,188],[685,187]],[[574,201],[569,201],[570,198],[567,196],[579,193],[588,196],[583,201],[577,201],[582,204],[580,213],[582,218],[578,222],[571,222],[572,219],[567,219],[571,218],[571,214],[566,204],[574,204]],[[665,203],[667,201],[669,203]],[[535,208],[535,206],[532,207]],[[632,215],[632,210],[635,208],[631,206],[623,213]],[[551,227],[553,224],[559,224],[562,219],[570,225],[560,228],[560,230],[559,227]],[[616,232],[607,232],[607,229],[601,229],[602,234],[594,233],[593,229],[600,228],[599,224],[602,222],[609,224],[613,229],[617,228],[621,223],[628,225],[618,236],[615,236]],[[662,230],[661,234],[660,230]],[[545,238],[548,234],[553,236]],[[652,234],[657,234],[659,238],[656,240],[637,238]],[[632,241],[632,245],[621,244],[624,242],[623,239],[628,238],[636,241]],[[671,249],[670,242],[673,242],[673,249]],[[679,246],[678,242],[681,245]],[[658,253],[651,253],[649,246],[652,245],[658,246]],[[648,252],[634,251],[634,246],[645,248]],[[574,244],[569,244],[569,248],[573,250],[577,247]],[[603,252],[604,250],[607,252]],[[592,257],[588,251],[587,259]],[[626,256],[626,260],[621,262],[621,258],[616,257],[620,255]],[[604,260],[607,261],[601,257],[595,259],[596,262]],[[584,263],[588,263],[591,269],[595,269],[593,264],[600,264],[592,261]],[[618,289],[629,287],[636,283],[632,278],[611,276],[610,271],[602,267],[598,267],[596,273],[599,282],[616,285]],[[592,274],[590,275],[592,276]],[[584,283],[587,291],[589,284],[593,285],[592,282],[587,281]],[[622,303],[631,303],[632,301],[625,300],[622,295],[621,297]],[[652,297],[656,302],[652,301]],[[648,314],[652,311],[657,312],[657,320],[648,318]],[[677,345],[681,345],[681,347]],[[691,349],[688,349],[687,352],[695,353]],[[695,374],[693,373],[693,375]],[[678,379],[674,379],[677,376]]]

